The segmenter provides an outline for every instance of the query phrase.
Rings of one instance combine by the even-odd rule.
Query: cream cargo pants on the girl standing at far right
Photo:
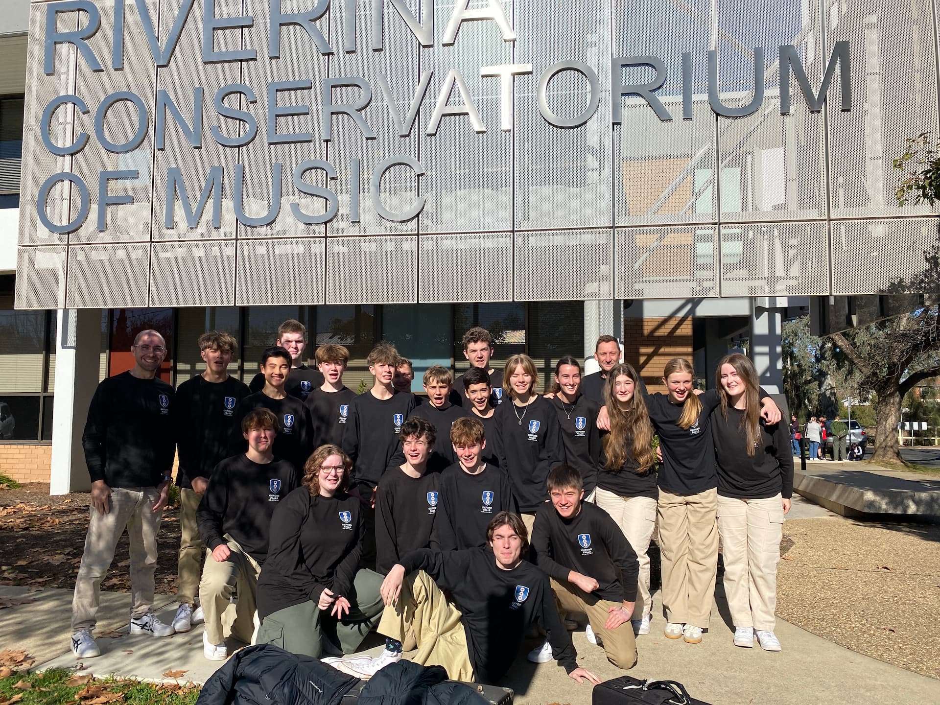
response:
[[[773,632],[776,565],[783,538],[780,495],[769,499],[719,496],[718,531],[725,562],[725,597],[734,626]]]

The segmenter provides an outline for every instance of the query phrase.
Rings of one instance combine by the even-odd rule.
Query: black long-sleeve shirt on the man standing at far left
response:
[[[173,471],[176,400],[156,378],[122,372],[91,398],[82,446],[91,481],[108,487],[156,487]]]

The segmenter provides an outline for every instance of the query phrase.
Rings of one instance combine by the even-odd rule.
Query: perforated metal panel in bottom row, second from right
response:
[[[722,226],[722,296],[826,296],[825,223]]]

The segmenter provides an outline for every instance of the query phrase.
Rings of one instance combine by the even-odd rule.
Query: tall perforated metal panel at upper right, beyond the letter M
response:
[[[879,217],[928,213],[895,201],[892,161],[904,140],[937,135],[936,66],[929,0],[870,0],[858,6],[826,0],[830,46],[852,48],[852,112],[838,111],[838,81],[830,90],[829,164],[832,214]],[[933,209],[940,211],[940,204]],[[834,260],[834,264],[838,259]]]

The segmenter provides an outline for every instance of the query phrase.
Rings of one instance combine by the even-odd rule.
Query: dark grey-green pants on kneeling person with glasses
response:
[[[356,572],[352,595],[349,595],[350,612],[343,619],[330,616],[329,609],[322,613],[312,601],[272,612],[261,622],[258,644],[274,644],[290,653],[320,658],[322,619],[327,619],[332,622],[328,626],[336,628],[340,650],[354,653],[382,617],[384,603],[379,591],[382,581],[383,576],[377,572],[365,569]]]

